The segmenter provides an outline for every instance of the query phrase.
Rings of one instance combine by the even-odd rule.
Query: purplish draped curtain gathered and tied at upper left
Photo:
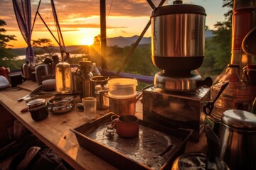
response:
[[[21,35],[26,41],[26,61],[35,62],[33,47],[31,45],[31,0],[12,0],[14,5],[14,13],[21,30]]]

